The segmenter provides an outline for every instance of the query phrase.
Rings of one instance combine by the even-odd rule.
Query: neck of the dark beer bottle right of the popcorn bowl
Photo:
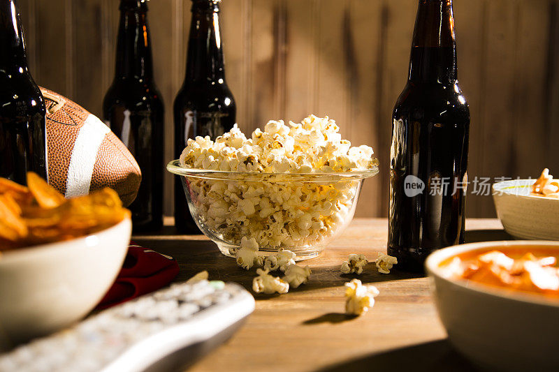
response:
[[[409,81],[454,84],[456,39],[451,0],[419,0]]]

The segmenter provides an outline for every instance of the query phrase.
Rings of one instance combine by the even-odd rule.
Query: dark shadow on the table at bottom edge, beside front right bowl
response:
[[[479,371],[447,340],[421,343],[328,366],[320,372],[346,371]]]

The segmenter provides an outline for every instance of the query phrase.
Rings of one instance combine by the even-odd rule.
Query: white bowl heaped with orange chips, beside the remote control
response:
[[[130,212],[110,188],[65,199],[0,178],[0,350],[87,315],[122,267]]]

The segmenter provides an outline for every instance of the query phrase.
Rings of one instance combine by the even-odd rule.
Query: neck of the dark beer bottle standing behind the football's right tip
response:
[[[122,0],[120,3],[115,77],[143,80],[153,77],[152,46],[144,0]]]

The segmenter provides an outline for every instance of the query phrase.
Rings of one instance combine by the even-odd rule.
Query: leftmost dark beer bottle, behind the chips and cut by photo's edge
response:
[[[0,0],[0,177],[27,184],[33,171],[47,179],[46,112],[15,0]]]

